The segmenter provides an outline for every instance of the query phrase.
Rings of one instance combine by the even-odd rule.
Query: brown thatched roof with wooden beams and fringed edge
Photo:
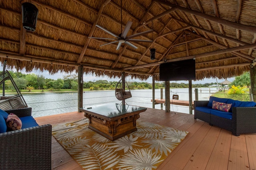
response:
[[[24,2],[38,10],[36,31],[22,28]],[[119,35],[120,0],[1,0],[0,60],[7,68],[33,68],[50,73],[83,66],[87,73],[142,80],[156,75],[159,64],[196,59],[196,78],[230,78],[250,70],[256,57],[255,0],[122,0],[122,28],[128,35],[153,29],[136,39],[152,43],[118,43],[95,25]],[[150,59],[150,49],[156,59]]]

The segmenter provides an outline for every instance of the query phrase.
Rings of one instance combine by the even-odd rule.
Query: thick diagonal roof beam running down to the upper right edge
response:
[[[165,4],[167,6],[170,6],[172,8],[177,8],[180,11],[183,11],[183,12],[186,12],[186,13],[189,13],[189,14],[193,14],[195,16],[199,16],[199,17],[205,18],[207,20],[214,21],[216,23],[221,23],[222,25],[226,25],[226,26],[233,27],[233,28],[236,28],[236,29],[240,29],[240,30],[243,30],[243,31],[247,31],[247,32],[250,32],[250,33],[255,33],[256,32],[256,27],[251,26],[251,25],[242,25],[240,23],[232,22],[232,21],[229,21],[229,20],[224,20],[222,18],[217,18],[217,17],[214,17],[214,16],[210,16],[208,14],[204,14],[204,13],[201,13],[201,12],[198,12],[198,11],[195,11],[195,10],[191,10],[191,9],[188,9],[188,8],[177,6],[177,5],[174,5],[170,2],[165,2],[165,1],[162,1],[162,0],[155,0],[155,1],[160,3],[160,4]]]

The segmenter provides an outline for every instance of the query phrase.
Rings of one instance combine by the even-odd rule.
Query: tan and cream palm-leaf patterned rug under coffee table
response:
[[[110,141],[84,118],[53,126],[52,135],[85,170],[154,170],[188,134],[140,120],[137,129]]]

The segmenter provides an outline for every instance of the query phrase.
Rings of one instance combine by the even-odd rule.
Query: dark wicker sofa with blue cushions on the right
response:
[[[225,106],[232,105],[228,111],[220,111],[215,107],[217,102]],[[194,101],[194,119],[224,128],[236,136],[241,133],[256,133],[256,102],[211,96],[209,101]]]

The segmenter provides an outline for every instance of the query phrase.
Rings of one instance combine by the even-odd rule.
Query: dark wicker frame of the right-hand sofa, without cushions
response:
[[[235,136],[240,136],[242,133],[256,133],[256,107],[232,107],[232,119],[226,119],[196,110],[196,107],[207,105],[208,101],[194,101],[194,119],[231,131]]]

